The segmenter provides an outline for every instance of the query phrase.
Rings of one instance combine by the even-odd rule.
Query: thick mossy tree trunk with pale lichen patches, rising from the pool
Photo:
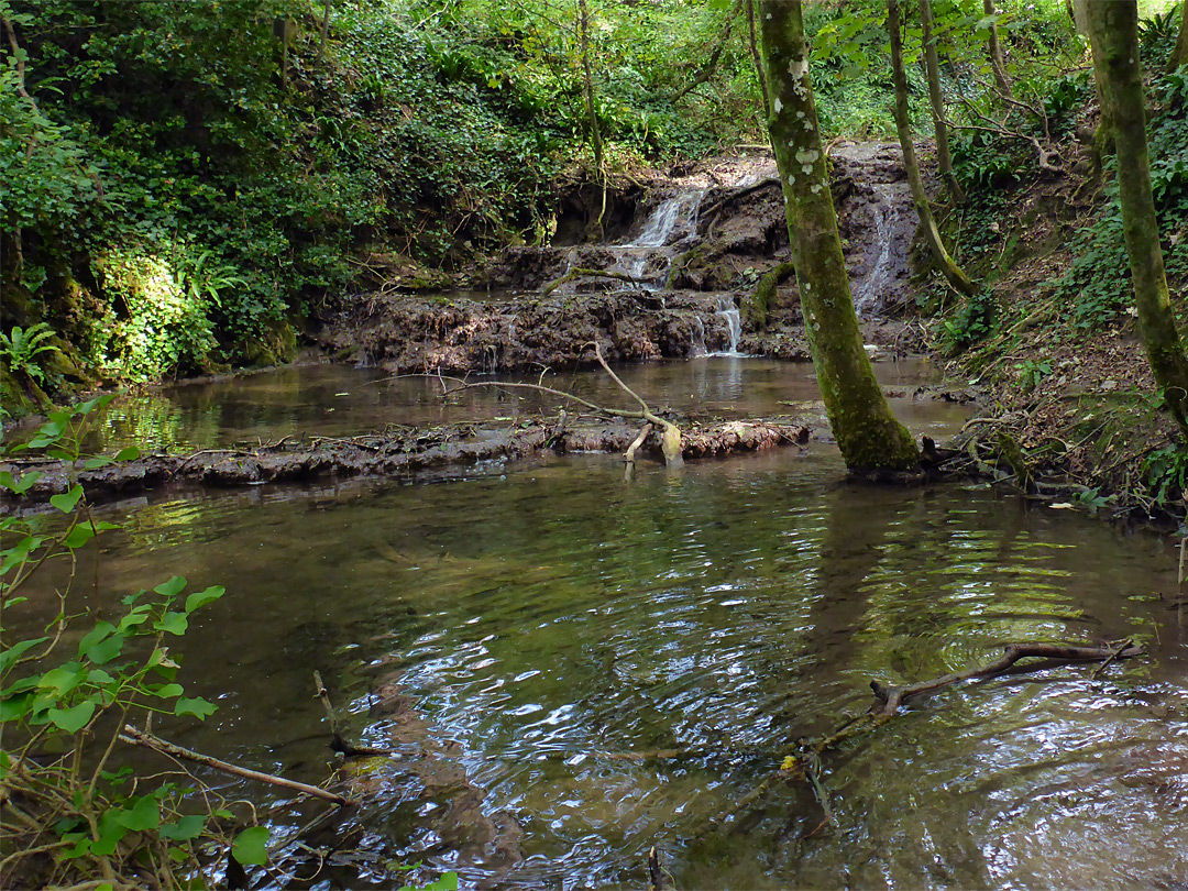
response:
[[[804,328],[829,424],[855,472],[910,470],[920,453],[891,415],[862,348],[829,191],[800,0],[758,0],[767,126],[784,191]]]

